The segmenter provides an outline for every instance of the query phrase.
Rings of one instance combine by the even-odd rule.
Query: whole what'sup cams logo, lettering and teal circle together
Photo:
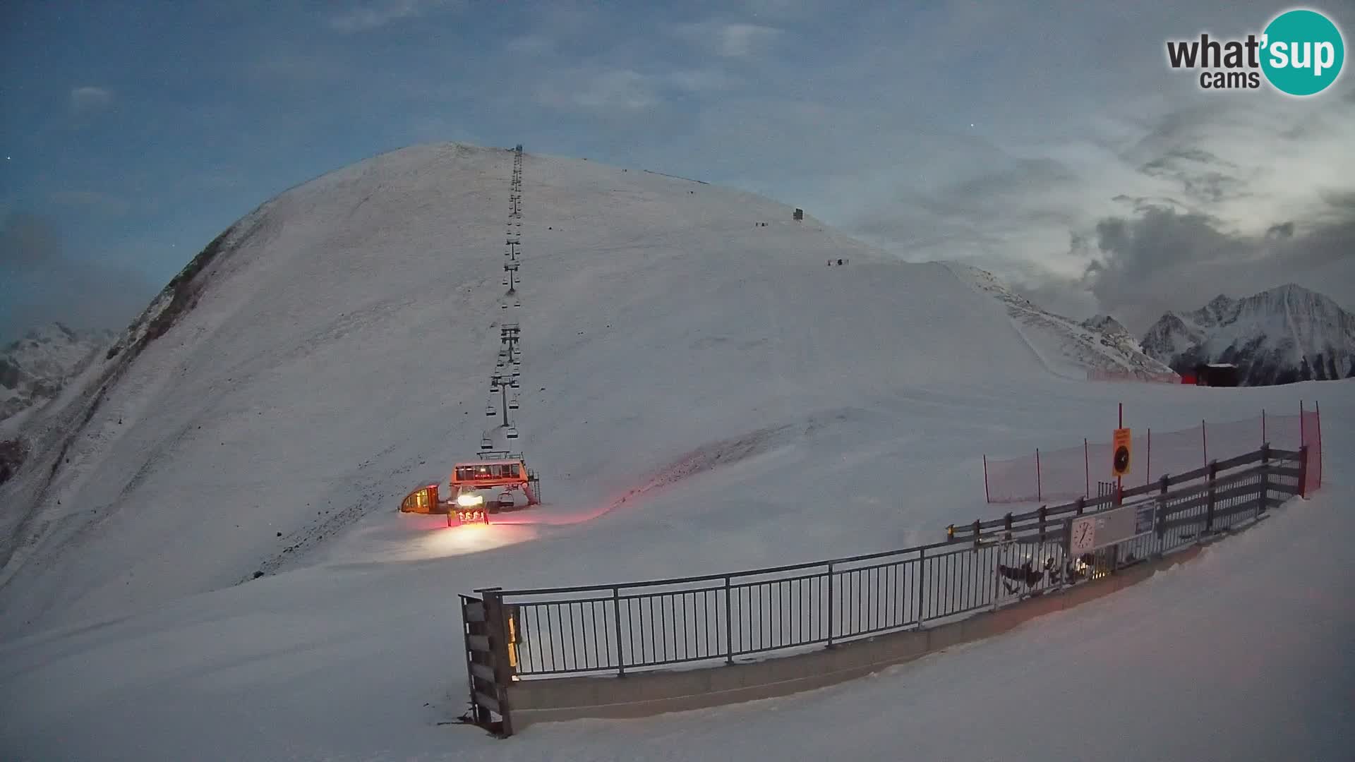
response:
[[[1316,95],[1341,73],[1346,43],[1331,19],[1309,9],[1286,11],[1245,39],[1167,41],[1173,69],[1201,69],[1202,89],[1257,89],[1262,75],[1289,95]]]

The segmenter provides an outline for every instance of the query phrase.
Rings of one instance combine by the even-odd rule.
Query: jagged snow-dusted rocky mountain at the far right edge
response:
[[[1355,316],[1293,283],[1245,298],[1220,294],[1194,312],[1168,312],[1144,350],[1179,372],[1202,362],[1238,366],[1243,384],[1291,384],[1355,376]]]

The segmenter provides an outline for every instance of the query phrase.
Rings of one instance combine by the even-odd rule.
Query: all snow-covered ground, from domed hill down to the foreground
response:
[[[511,165],[417,146],[266,203],[42,498],[45,462],[0,487],[0,757],[1348,758],[1355,385],[1072,380],[947,266],[813,210],[526,155],[508,312],[546,504],[396,513],[486,427]],[[984,503],[984,452],[1108,438],[1117,403],[1169,431],[1299,399],[1329,422],[1324,488],[1140,586],[785,698],[503,742],[442,724],[466,708],[458,593],[934,541],[1011,507]]]

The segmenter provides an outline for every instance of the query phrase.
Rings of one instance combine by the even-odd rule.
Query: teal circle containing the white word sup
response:
[[[1276,89],[1313,95],[1341,73],[1346,61],[1341,31],[1317,11],[1286,11],[1263,34],[1262,71]]]

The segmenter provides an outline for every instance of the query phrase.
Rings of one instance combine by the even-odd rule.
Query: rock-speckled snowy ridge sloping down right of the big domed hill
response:
[[[986,270],[961,263],[947,266],[974,289],[1003,304],[1012,325],[1054,373],[1085,378],[1091,370],[1146,378],[1172,372],[1144,354],[1134,336],[1114,317],[1096,316],[1079,323],[1035,306]]]

